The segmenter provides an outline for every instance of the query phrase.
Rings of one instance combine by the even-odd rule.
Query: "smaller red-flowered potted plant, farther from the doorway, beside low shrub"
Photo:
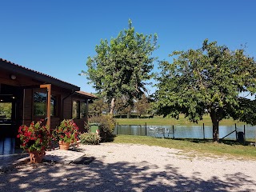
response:
[[[73,119],[64,119],[54,131],[54,140],[58,141],[60,150],[68,150],[70,143],[78,141],[79,128]]]

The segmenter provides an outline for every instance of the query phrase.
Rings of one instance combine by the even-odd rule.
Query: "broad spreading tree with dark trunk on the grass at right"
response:
[[[191,122],[210,114],[214,142],[224,118],[256,124],[254,101],[239,96],[256,92],[256,64],[244,50],[231,51],[206,39],[198,50],[174,51],[174,62],[160,62],[156,108],[158,114]]]

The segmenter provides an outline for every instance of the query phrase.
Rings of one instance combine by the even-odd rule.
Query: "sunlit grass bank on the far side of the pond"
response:
[[[202,126],[202,123],[205,123],[205,126],[211,126],[210,116],[204,116],[201,122],[198,124],[190,122],[188,118],[184,118],[184,115],[181,114],[180,118],[177,120],[175,118],[162,118],[162,117],[154,117],[154,118],[115,118],[119,125],[152,125],[152,126]],[[237,123],[238,125],[244,125],[245,122],[236,122],[232,118],[223,119],[220,122],[220,126],[234,126]]]

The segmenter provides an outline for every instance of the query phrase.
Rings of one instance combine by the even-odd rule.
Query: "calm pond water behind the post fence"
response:
[[[225,137],[235,130],[235,126],[219,126],[219,138]],[[244,126],[237,126],[237,132],[244,132]],[[114,134],[130,134],[165,138],[213,138],[212,126],[124,126],[118,125]],[[256,126],[246,126],[246,139],[254,139]],[[226,139],[236,139],[236,133],[230,134]]]

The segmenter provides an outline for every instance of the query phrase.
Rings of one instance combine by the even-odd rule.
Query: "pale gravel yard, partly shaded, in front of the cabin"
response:
[[[79,146],[90,165],[22,165],[0,174],[0,191],[256,191],[256,162],[158,146]]]

